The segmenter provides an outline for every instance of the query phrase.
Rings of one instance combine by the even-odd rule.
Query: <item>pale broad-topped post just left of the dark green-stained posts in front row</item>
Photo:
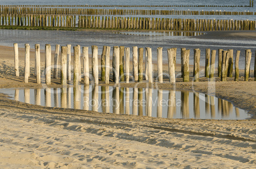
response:
[[[167,49],[168,55],[168,69],[170,76],[170,83],[175,83],[175,65],[174,65],[174,55],[176,55],[175,48]]]

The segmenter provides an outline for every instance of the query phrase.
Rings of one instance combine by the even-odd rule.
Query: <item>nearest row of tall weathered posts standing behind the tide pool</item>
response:
[[[18,71],[18,44],[13,44],[14,55],[15,55],[15,73],[19,76]],[[78,84],[82,81],[85,85],[89,85],[89,47],[82,48],[79,45],[74,46],[73,55],[73,84]],[[138,48],[137,46],[132,47],[132,72],[130,74],[130,48],[124,46],[113,46],[113,58],[112,67],[110,67],[110,46],[103,46],[103,52],[101,54],[101,64],[98,64],[98,47],[92,46],[92,81],[94,84],[99,84],[99,68],[101,68],[101,81],[108,84],[110,82],[110,70],[113,70],[113,81],[118,84],[121,82],[129,83],[130,78],[134,81],[142,82],[145,78],[148,83],[153,83],[153,65],[152,65],[152,48],[145,48],[145,55],[143,57],[144,48]],[[46,85],[51,84],[51,71],[53,69],[53,78],[58,77],[58,63],[59,63],[59,50],[60,45],[55,46],[54,64],[52,65],[52,50],[50,44],[45,45],[45,83]],[[34,75],[37,83],[41,83],[41,61],[40,61],[40,50],[39,44],[35,44],[35,69]],[[170,83],[176,82],[176,53],[177,48],[167,49],[168,58],[168,72],[167,74]],[[205,69],[204,76],[210,78],[210,81],[214,81],[215,75],[215,57],[216,50],[206,49],[205,56]],[[236,62],[235,62],[235,81],[239,79],[239,55],[240,51],[236,51]],[[190,50],[181,48],[181,77],[184,82],[190,81],[189,75],[189,57]],[[199,81],[200,76],[200,57],[201,50],[194,49],[194,81]],[[144,59],[143,59],[144,58]],[[252,51],[245,50],[245,81],[248,81],[250,76],[250,62],[252,58]],[[82,74],[82,62],[83,62],[83,74]],[[143,64],[145,64],[145,70],[143,70]],[[227,81],[227,77],[232,78],[234,57],[233,50],[218,50],[218,77],[221,81]],[[162,47],[157,48],[157,78],[155,81],[159,83],[163,82],[164,74],[162,71]],[[111,68],[111,69],[110,69]],[[25,44],[25,69],[24,69],[24,81],[28,83],[30,76],[30,46]],[[255,65],[254,65],[254,77],[256,81],[256,52],[255,52]],[[60,54],[60,83],[62,85],[71,82],[71,45],[61,46]]]

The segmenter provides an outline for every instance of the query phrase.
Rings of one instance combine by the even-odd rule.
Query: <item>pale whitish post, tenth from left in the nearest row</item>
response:
[[[92,46],[92,77],[94,84],[99,84],[99,69],[98,69],[98,46]]]

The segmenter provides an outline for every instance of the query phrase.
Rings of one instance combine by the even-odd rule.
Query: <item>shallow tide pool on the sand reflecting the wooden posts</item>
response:
[[[190,91],[83,86],[1,89],[13,100],[46,107],[83,109],[155,118],[249,119],[231,102]]]

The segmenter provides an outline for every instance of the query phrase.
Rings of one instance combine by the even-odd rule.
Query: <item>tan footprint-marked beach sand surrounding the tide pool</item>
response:
[[[40,87],[32,76],[27,84],[23,83],[22,73],[19,78],[14,76],[12,48],[0,46],[0,51],[0,88]],[[22,49],[20,56],[24,56]],[[20,68],[22,72],[24,58],[20,59]],[[167,71],[166,65],[163,68]],[[242,76],[243,71],[238,82],[233,78],[220,82],[217,78],[215,93],[205,78],[199,83],[182,83],[178,78],[175,86],[165,79],[158,86],[211,93],[255,114],[253,72],[249,82],[242,81]],[[59,79],[53,79],[51,86],[60,86]],[[145,86],[146,83],[139,84]],[[3,94],[0,114],[1,168],[253,168],[256,164],[255,119],[104,114],[24,104]]]

